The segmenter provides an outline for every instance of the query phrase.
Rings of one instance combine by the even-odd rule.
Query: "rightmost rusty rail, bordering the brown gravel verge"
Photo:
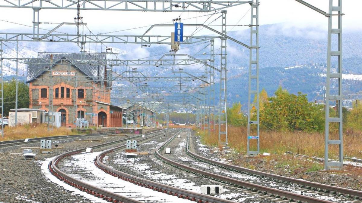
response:
[[[335,191],[335,192],[338,192],[338,193],[358,196],[359,199],[362,199],[362,191],[352,190],[352,189],[347,189],[347,188],[342,188],[342,187],[336,187],[336,186],[331,186],[331,185],[325,185],[325,184],[310,182],[310,181],[305,181],[305,180],[298,180],[298,179],[295,179],[295,178],[279,176],[279,175],[276,175],[276,174],[271,174],[271,173],[261,172],[261,171],[258,171],[258,170],[252,170],[252,169],[248,169],[248,168],[238,167],[238,166],[231,165],[231,164],[221,163],[221,162],[218,162],[218,161],[211,160],[211,159],[208,159],[206,157],[200,156],[198,154],[195,154],[195,153],[191,152],[189,150],[189,148],[187,148],[187,152],[190,155],[192,155],[192,156],[194,156],[194,157],[196,157],[198,159],[201,159],[203,161],[206,161],[206,163],[210,163],[210,164],[213,164],[213,165],[216,164],[216,165],[219,165],[221,167],[226,167],[226,168],[230,168],[230,169],[234,169],[234,170],[239,170],[241,172],[246,172],[246,173],[252,173],[252,174],[256,174],[258,176],[264,176],[264,177],[274,178],[274,179],[281,180],[281,181],[292,182],[292,183],[299,184],[299,185],[316,187],[316,188],[323,189],[323,190]]]

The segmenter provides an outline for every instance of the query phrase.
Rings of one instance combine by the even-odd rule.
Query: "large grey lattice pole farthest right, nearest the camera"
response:
[[[324,148],[324,169],[341,170],[343,167],[343,120],[342,120],[342,0],[338,1],[338,6],[333,6],[333,0],[329,0],[328,15],[328,45],[327,45],[327,82],[325,95],[325,148]],[[337,27],[333,26],[333,16],[337,17]],[[334,37],[336,36],[336,37]],[[337,39],[337,50],[332,51],[332,39]],[[336,72],[331,73],[332,56],[338,57]],[[338,79],[338,83],[332,84],[338,87],[337,95],[330,94],[331,79]],[[329,102],[335,100],[339,104],[336,117],[329,117]],[[329,139],[329,123],[338,123],[338,139]],[[328,160],[329,144],[337,144],[339,147],[339,161],[331,162]]]

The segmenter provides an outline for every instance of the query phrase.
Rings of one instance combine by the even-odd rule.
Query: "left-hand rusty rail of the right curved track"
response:
[[[170,163],[172,165],[184,168],[184,169],[189,170],[189,171],[191,171],[193,173],[198,173],[198,174],[201,174],[201,175],[204,175],[204,176],[208,176],[208,177],[211,177],[211,178],[216,178],[218,180],[225,181],[225,182],[227,182],[227,183],[229,183],[231,185],[240,185],[240,186],[244,186],[244,187],[251,187],[251,188],[254,188],[255,190],[264,191],[264,192],[267,192],[267,193],[271,193],[273,195],[284,196],[286,198],[289,198],[290,200],[300,200],[300,201],[308,202],[308,203],[331,203],[330,201],[327,201],[327,200],[321,200],[321,199],[313,198],[313,197],[310,197],[310,196],[299,195],[299,194],[290,193],[290,192],[279,190],[279,189],[274,189],[274,188],[270,188],[270,187],[266,187],[266,186],[262,186],[262,185],[257,185],[255,183],[250,183],[250,182],[237,180],[237,179],[234,179],[234,178],[220,176],[218,174],[206,172],[206,171],[203,171],[203,170],[200,170],[200,169],[189,167],[189,166],[181,164],[181,163],[177,163],[176,161],[172,161],[172,160],[162,156],[159,153],[159,151],[160,151],[160,149],[165,148],[165,146],[167,146],[167,144],[170,143],[173,138],[169,139],[166,143],[164,143],[159,148],[157,148],[157,150],[155,152],[157,154],[157,156],[159,156],[161,159],[163,159],[164,161],[166,161],[166,162],[168,162],[168,163]],[[188,143],[189,143],[189,139],[187,139],[187,142],[186,142],[186,149],[188,149],[188,147],[189,147]]]

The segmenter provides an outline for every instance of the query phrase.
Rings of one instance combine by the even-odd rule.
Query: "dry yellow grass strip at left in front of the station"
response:
[[[73,132],[71,129],[65,127],[53,128],[52,131],[48,132],[47,124],[28,124],[19,125],[14,128],[5,127],[4,139],[0,137],[0,141],[74,134],[77,134],[77,132]]]

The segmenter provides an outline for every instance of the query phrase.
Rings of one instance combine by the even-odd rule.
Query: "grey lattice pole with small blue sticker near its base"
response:
[[[249,51],[249,90],[248,90],[248,142],[247,154],[259,155],[259,0],[253,0],[251,4],[250,24],[250,51]],[[256,97],[256,103],[251,103],[252,96]],[[256,117],[252,118],[251,111],[256,110]],[[254,112],[255,113],[255,112]],[[255,119],[255,120],[254,120]],[[252,131],[251,125],[256,125]],[[250,139],[257,139],[257,150],[250,151]]]

